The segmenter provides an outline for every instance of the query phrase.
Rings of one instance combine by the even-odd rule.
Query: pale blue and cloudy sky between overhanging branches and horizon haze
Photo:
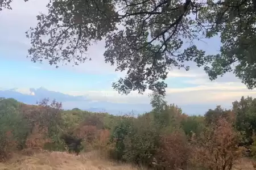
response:
[[[36,25],[36,15],[39,12],[46,12],[47,2],[48,0],[30,0],[25,3],[14,0],[11,3],[13,10],[5,9],[0,12],[0,89],[19,88],[26,92],[29,88],[44,87],[74,96],[85,95],[95,101],[150,103],[150,91],[146,91],[144,95],[132,92],[122,96],[113,90],[112,82],[125,74],[115,72],[115,67],[104,62],[104,41],[89,48],[88,54],[92,61],[75,67],[63,66],[56,69],[48,63],[32,63],[26,58],[30,43],[25,32]],[[220,45],[218,37],[197,42],[197,46],[208,54],[217,53]],[[197,108],[222,105],[228,108],[232,101],[240,100],[241,96],[256,97],[256,91],[247,90],[232,73],[211,82],[203,69],[193,64],[189,72],[176,69],[170,71],[166,82],[166,100],[181,108],[188,105]],[[189,108],[187,111],[189,112]]]

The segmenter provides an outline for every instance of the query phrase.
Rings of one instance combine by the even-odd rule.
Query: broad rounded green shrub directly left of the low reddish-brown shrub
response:
[[[154,122],[148,117],[140,117],[130,127],[123,144],[123,160],[150,165],[158,147],[159,133]]]

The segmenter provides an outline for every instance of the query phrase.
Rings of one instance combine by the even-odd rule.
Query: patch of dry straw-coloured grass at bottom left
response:
[[[79,156],[65,152],[40,152],[32,156],[15,155],[9,162],[0,163],[0,170],[98,170],[124,169],[139,170],[145,168],[134,167],[129,164],[112,162],[102,158],[99,152],[89,152]]]

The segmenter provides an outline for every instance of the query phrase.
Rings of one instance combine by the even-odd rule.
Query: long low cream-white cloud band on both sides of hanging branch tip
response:
[[[226,83],[209,83],[207,85],[199,85],[187,88],[167,88],[166,100],[168,103],[177,105],[187,104],[232,104],[234,100],[239,100],[241,96],[256,97],[256,90],[247,90],[242,83],[226,82]],[[84,91],[84,92],[65,92],[65,94],[80,96],[94,101],[109,101],[113,103],[130,103],[130,104],[149,104],[150,99],[146,91],[143,95],[138,92],[131,92],[129,95],[120,95],[117,91]]]

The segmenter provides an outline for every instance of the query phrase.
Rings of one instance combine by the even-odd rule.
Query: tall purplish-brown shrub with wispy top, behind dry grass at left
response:
[[[30,128],[30,137],[26,146],[63,150],[64,145],[60,139],[61,128],[64,127],[61,117],[62,105],[55,100],[48,103],[49,99],[43,99],[39,105],[21,105],[20,113],[26,118]]]

